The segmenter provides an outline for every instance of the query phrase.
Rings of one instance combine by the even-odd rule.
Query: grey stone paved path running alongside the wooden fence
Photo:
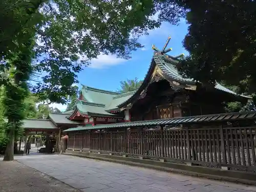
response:
[[[254,186],[66,155],[31,155],[16,159],[84,192],[256,191]]]

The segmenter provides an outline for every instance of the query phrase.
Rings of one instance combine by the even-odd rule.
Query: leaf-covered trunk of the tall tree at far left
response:
[[[24,34],[25,35],[25,34]],[[22,120],[25,118],[25,99],[29,95],[27,81],[32,72],[30,65],[33,58],[33,34],[27,33],[27,42],[18,45],[15,52],[8,55],[6,66],[10,66],[10,75],[2,79],[4,84],[3,109],[7,118],[6,135],[7,146],[4,160],[13,160],[15,137],[20,133]],[[25,36],[26,36],[25,35]]]

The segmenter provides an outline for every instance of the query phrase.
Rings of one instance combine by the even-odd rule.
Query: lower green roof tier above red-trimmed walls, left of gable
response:
[[[104,104],[91,103],[86,101],[79,100],[76,104],[77,110],[79,113],[84,115],[97,115],[104,117],[118,117],[115,114],[111,114],[105,111]]]

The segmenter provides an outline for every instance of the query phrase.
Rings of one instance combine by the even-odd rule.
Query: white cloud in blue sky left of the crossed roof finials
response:
[[[115,55],[103,55],[100,54],[97,59],[92,59],[89,68],[103,69],[111,66],[120,65],[125,62],[126,59],[117,58]]]

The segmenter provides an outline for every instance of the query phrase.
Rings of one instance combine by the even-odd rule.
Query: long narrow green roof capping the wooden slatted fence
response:
[[[133,122],[113,123],[113,124],[100,124],[100,125],[95,125],[90,127],[79,126],[76,128],[65,130],[65,132],[100,130],[100,129],[111,129],[111,128],[145,127],[145,126],[158,126],[158,125],[177,125],[177,124],[200,123],[200,122],[220,122],[220,121],[233,121],[233,120],[244,120],[244,119],[256,119],[256,113],[255,112],[223,113],[223,114],[213,114],[213,115],[170,118],[170,119],[155,119],[155,120],[133,121]],[[79,129],[79,130],[76,130],[76,129]]]

